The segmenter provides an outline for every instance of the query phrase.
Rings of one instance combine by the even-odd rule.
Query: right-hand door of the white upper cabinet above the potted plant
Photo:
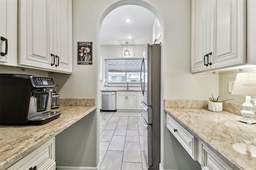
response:
[[[216,0],[213,67],[246,63],[246,1]]]

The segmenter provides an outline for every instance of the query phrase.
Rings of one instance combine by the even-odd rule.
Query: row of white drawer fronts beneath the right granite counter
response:
[[[214,154],[200,140],[183,128],[170,115],[166,114],[167,128],[177,138],[190,156],[197,160],[202,170],[232,170],[228,164]]]

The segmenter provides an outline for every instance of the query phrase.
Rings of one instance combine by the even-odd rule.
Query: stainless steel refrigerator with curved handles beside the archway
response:
[[[140,105],[144,153],[148,170],[159,170],[160,163],[160,84],[161,84],[161,46],[148,44],[148,53],[142,59],[140,84],[143,100]]]

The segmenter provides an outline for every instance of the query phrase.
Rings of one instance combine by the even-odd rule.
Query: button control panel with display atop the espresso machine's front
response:
[[[31,76],[30,79],[34,87],[54,87],[55,86],[55,82],[52,77]]]

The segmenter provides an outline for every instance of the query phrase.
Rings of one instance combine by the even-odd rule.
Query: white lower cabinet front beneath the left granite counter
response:
[[[7,170],[55,170],[55,137],[7,168]]]

